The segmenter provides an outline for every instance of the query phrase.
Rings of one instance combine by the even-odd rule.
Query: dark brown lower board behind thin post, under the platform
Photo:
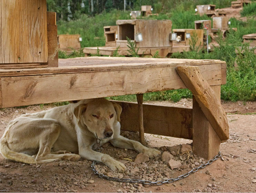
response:
[[[138,104],[115,101],[122,107],[121,129],[139,132]],[[193,139],[192,109],[143,104],[145,133]]]

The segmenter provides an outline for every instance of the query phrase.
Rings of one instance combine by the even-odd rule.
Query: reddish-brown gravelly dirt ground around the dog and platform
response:
[[[192,104],[191,99],[182,99],[178,103],[168,101],[151,103],[178,107],[191,107]],[[223,160],[218,159],[185,179],[160,186],[144,186],[101,179],[93,174],[90,168],[91,162],[87,160],[29,165],[9,161],[0,156],[0,192],[256,192],[256,102],[222,102],[222,105],[228,113],[230,133],[229,140],[220,145]],[[13,118],[24,113],[50,108],[52,106],[37,105],[2,109],[0,111],[0,136]],[[126,133],[123,132],[123,135],[138,140],[137,133],[126,131]],[[151,134],[146,134],[145,138],[149,147],[158,149],[162,146],[172,147],[191,143],[191,140]],[[115,159],[134,159],[137,155],[135,151],[122,150],[111,145],[103,149],[105,153]],[[127,160],[124,163],[133,164]],[[156,172],[155,176],[161,178],[175,178],[191,170],[191,167],[171,170],[162,161],[150,159],[150,162],[136,165],[138,170],[143,167],[143,171],[145,170],[140,172],[138,177],[144,178],[148,170],[152,170],[151,166],[147,166],[147,164],[154,164],[155,171],[165,172],[165,175]],[[103,167],[102,170],[106,169],[107,171],[103,165],[99,167]],[[151,172],[154,175],[154,172]],[[155,176],[152,177],[155,178]]]

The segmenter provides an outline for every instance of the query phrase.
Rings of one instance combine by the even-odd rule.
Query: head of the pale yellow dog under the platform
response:
[[[74,114],[80,127],[87,127],[98,139],[112,139],[114,124],[120,122],[122,108],[115,102],[104,98],[93,99],[78,105]]]

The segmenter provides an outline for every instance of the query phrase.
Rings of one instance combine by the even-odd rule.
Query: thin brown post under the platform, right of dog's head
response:
[[[136,94],[137,102],[138,102],[138,114],[139,114],[139,136],[141,144],[145,145],[145,138],[144,138],[144,126],[143,126],[143,94]]]

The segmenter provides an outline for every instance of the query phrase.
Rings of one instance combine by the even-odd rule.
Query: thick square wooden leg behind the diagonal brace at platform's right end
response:
[[[211,86],[216,93],[216,99],[220,100],[220,85]],[[204,159],[212,159],[219,152],[221,140],[211,127],[208,119],[193,97],[193,153]]]

